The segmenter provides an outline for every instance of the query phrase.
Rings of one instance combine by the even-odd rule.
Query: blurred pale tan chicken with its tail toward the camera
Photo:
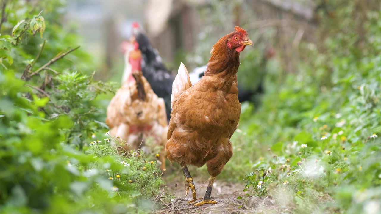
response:
[[[143,149],[147,138],[152,137],[153,145],[164,149],[168,124],[165,104],[159,98],[141,72],[141,51],[132,39],[123,42],[121,47],[125,57],[122,87],[111,99],[107,107],[106,124],[110,136],[122,142],[119,152],[128,153],[132,149]],[[125,142],[123,142],[123,141]],[[160,152],[161,169],[165,169],[165,153]]]

